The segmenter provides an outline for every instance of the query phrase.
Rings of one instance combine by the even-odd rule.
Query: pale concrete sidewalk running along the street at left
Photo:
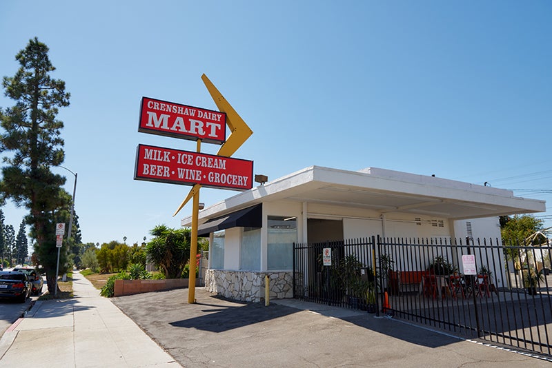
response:
[[[38,301],[3,334],[1,367],[181,367],[79,272],[73,291]]]

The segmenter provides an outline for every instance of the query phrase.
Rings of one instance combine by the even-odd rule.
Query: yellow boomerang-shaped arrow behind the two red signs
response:
[[[239,147],[242,146],[242,144],[244,144],[245,141],[247,141],[251,134],[253,134],[253,130],[248,127],[244,119],[242,119],[242,116],[239,116],[232,105],[230,105],[230,103],[226,101],[224,96],[222,96],[219,90],[217,90],[215,85],[207,78],[205,74],[201,76],[201,79],[203,80],[203,83],[205,83],[205,86],[209,91],[211,97],[213,98],[213,101],[215,101],[217,108],[219,108],[219,111],[226,112],[226,124],[230,128],[230,136],[220,147],[217,155],[230,157],[237,151]],[[192,187],[192,190],[190,190],[188,196],[184,198],[184,201],[180,203],[175,214],[172,215],[173,217],[176,216],[178,212],[180,212],[182,207],[184,207],[186,203],[188,203],[188,201],[190,201],[190,199],[193,198],[196,193],[199,193],[199,188],[201,188],[201,185],[199,184],[196,184]]]

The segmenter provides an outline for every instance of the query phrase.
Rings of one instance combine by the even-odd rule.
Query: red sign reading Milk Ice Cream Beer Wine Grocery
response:
[[[234,190],[253,187],[253,161],[138,145],[136,180],[182,185],[201,184]]]

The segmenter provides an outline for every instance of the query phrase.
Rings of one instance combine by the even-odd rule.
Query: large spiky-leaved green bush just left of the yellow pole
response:
[[[155,236],[146,245],[150,260],[166,278],[179,278],[190,256],[190,229],[157,225],[150,234]]]

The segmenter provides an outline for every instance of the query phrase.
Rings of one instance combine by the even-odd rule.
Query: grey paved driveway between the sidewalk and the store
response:
[[[112,298],[184,367],[550,367],[390,318],[297,300],[236,303],[188,289]],[[278,303],[278,304],[276,304]]]

